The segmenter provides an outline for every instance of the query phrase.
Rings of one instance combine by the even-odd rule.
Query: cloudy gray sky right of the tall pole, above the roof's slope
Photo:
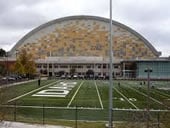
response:
[[[163,56],[169,56],[170,1],[115,0],[113,18],[144,36]]]

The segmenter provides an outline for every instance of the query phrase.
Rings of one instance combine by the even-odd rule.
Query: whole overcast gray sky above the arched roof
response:
[[[113,0],[113,20],[170,55],[170,0]],[[109,18],[109,0],[0,0],[0,48],[10,50],[32,29],[73,15]]]

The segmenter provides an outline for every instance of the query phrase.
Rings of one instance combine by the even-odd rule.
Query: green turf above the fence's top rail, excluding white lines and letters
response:
[[[64,80],[63,80],[64,81]],[[57,80],[46,80],[41,82],[41,87],[49,83],[57,82]],[[79,88],[82,81],[77,81],[77,85],[70,91],[70,93],[64,97],[33,97],[32,95],[36,92],[47,89],[49,86],[37,90],[29,95],[26,95],[17,100],[18,105],[29,105],[29,106],[55,106],[55,107],[67,107],[68,103],[73,98],[75,92]],[[79,88],[77,94],[72,99],[69,107],[87,107],[87,108],[101,108],[101,103],[99,96],[97,94],[95,82],[99,90],[99,95],[101,97],[102,105],[104,108],[108,108],[108,91],[109,85],[108,81],[93,81],[85,80],[84,83]],[[120,86],[118,86],[118,81],[114,81],[113,88],[113,107],[114,108],[126,108],[134,109],[134,107],[122,97],[124,95],[129,98],[135,98],[136,101],[130,101],[139,109],[144,109],[147,107],[147,82],[145,85],[139,85],[139,81],[121,81]],[[56,83],[52,84],[55,85]],[[162,102],[170,98],[169,92],[167,90],[159,90],[158,87],[169,87],[169,82],[152,82],[155,85],[153,89],[150,89],[150,96],[155,100]],[[50,86],[52,86],[50,85]],[[5,96],[7,100],[14,97],[20,96],[32,90],[39,88],[37,86],[37,81],[30,82],[27,84],[21,84],[17,86],[9,87],[5,90]],[[118,92],[118,91],[119,92]],[[122,95],[121,95],[121,94]],[[144,95],[143,95],[144,94]],[[8,96],[7,96],[8,95]],[[120,100],[120,99],[124,100]],[[12,103],[11,103],[12,104]],[[164,109],[164,106],[150,99],[150,106],[152,109]]]

